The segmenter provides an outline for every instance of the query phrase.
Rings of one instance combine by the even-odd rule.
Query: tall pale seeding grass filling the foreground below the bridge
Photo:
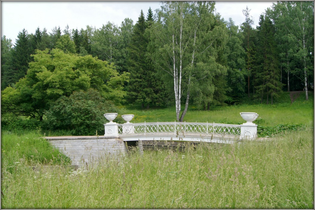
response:
[[[307,128],[273,141],[132,151],[88,170],[35,172],[21,162],[9,173],[3,164],[1,207],[312,209],[313,150]]]

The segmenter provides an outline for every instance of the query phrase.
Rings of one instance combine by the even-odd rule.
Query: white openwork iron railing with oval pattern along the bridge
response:
[[[157,122],[119,124],[118,134],[174,134],[174,135],[241,135],[241,126],[216,123]]]

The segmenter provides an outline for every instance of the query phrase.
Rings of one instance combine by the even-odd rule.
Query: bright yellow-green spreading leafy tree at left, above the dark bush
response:
[[[60,49],[36,51],[27,75],[15,88],[2,91],[2,111],[43,119],[43,112],[61,96],[94,88],[116,104],[123,101],[124,82],[129,73],[119,75],[113,65],[91,55],[66,54]]]

